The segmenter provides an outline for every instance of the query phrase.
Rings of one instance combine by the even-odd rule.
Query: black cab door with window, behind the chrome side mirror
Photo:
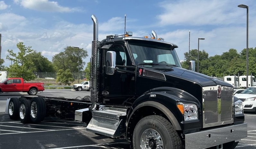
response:
[[[106,74],[106,53],[115,51],[116,69],[114,74]],[[135,68],[131,66],[131,61],[127,55],[126,48],[122,45],[113,45],[109,49],[104,49],[104,79],[103,79],[103,100],[111,105],[129,105],[130,99],[135,94]]]

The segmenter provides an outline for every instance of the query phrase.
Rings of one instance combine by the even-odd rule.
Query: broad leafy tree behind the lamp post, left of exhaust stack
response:
[[[87,51],[83,48],[79,49],[79,70],[83,69],[85,62],[84,58],[88,56]],[[60,52],[52,58],[55,70],[70,69],[71,72],[78,70],[78,48],[67,46],[63,52]]]

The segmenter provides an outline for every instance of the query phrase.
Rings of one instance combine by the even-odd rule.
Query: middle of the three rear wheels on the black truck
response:
[[[30,120],[30,100],[23,99],[21,101],[21,106],[19,109],[19,117],[21,120],[21,123],[27,124],[31,122]]]

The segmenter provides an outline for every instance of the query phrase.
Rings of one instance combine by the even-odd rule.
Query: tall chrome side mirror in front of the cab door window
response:
[[[115,74],[115,51],[107,51],[106,55],[106,74]]]

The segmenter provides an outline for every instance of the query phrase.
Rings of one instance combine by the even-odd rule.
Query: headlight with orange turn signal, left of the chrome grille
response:
[[[184,115],[185,121],[198,120],[198,110],[196,105],[179,102],[177,107]]]

